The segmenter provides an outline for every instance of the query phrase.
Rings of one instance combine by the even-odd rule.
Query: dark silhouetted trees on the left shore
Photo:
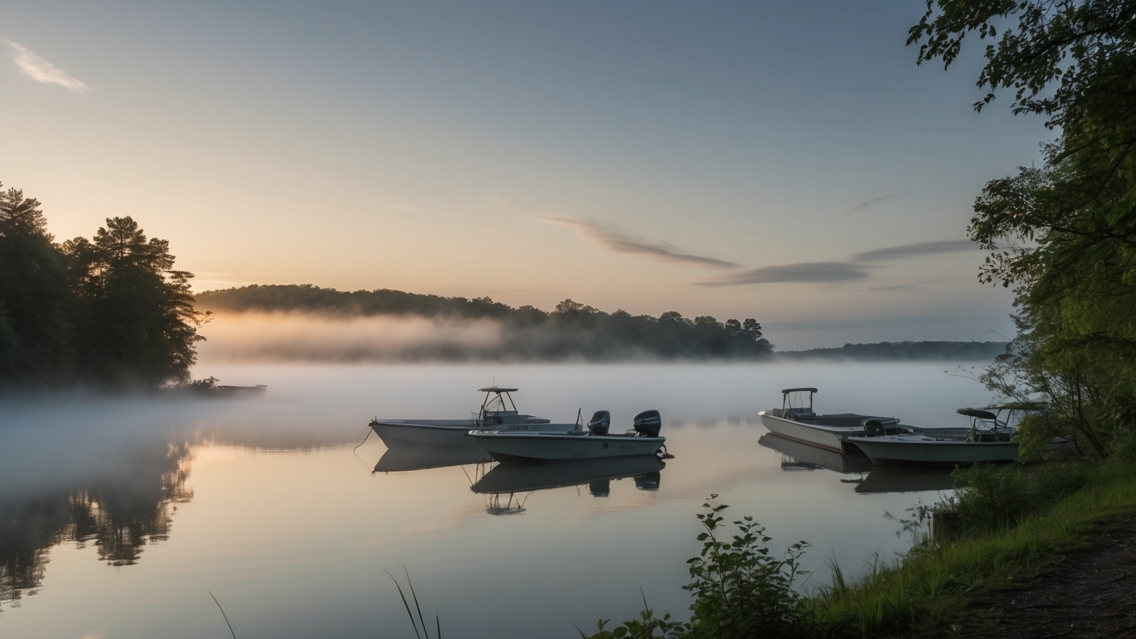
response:
[[[206,318],[191,277],[130,217],[57,244],[39,200],[0,192],[0,381],[186,381]]]

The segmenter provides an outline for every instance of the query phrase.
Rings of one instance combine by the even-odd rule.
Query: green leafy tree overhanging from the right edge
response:
[[[969,233],[992,251],[979,273],[1014,287],[1018,339],[984,377],[1044,397],[1037,437],[1074,433],[1109,454],[1136,417],[1136,2],[933,0],[910,30],[919,61],[986,45],[978,85],[1013,89],[1014,113],[1059,131],[1044,165],[993,180]]]

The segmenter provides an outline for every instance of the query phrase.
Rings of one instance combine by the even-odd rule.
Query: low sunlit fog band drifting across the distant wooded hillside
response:
[[[693,323],[680,331],[579,323],[516,325],[490,317],[421,315],[326,315],[317,313],[220,313],[200,333],[208,362],[627,362],[752,359],[737,343],[709,335]],[[677,322],[676,322],[677,324]],[[747,339],[742,346],[751,346]]]

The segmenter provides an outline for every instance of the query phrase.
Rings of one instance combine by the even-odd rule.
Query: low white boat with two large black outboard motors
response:
[[[598,410],[587,423],[587,430],[576,428],[566,432],[517,432],[502,430],[470,430],[498,462],[549,462],[590,459],[596,457],[629,457],[655,455],[667,438],[659,437],[662,417],[658,410],[635,415],[634,428],[624,434],[609,432],[611,415]]]

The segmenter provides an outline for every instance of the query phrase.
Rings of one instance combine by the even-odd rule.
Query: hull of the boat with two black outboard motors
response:
[[[498,462],[550,462],[654,455],[665,437],[542,434],[517,432],[471,433]]]

